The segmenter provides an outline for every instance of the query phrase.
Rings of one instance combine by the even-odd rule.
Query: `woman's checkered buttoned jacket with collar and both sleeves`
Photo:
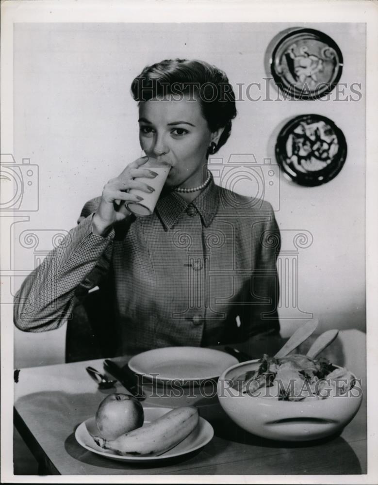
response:
[[[102,237],[91,222],[99,201],[85,204],[78,226],[25,279],[15,298],[18,328],[59,327],[75,292],[95,286],[112,295],[119,354],[279,328],[280,238],[269,203],[212,179],[190,204],[169,193],[152,215],[131,215]]]

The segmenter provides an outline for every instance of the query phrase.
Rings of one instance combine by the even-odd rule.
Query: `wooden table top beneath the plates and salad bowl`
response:
[[[365,390],[365,339],[357,330],[341,332],[329,347],[333,362],[347,366],[362,379]],[[259,338],[239,348],[259,356],[272,355],[281,345],[278,338]],[[306,344],[308,347],[308,343]],[[356,352],[358,349],[358,352]],[[306,351],[306,348],[299,349]],[[127,357],[117,359],[126,362]],[[85,371],[87,365],[102,370],[102,359],[71,364],[21,369],[15,384],[15,425],[40,470],[62,475],[253,475],[253,474],[364,474],[366,473],[366,398],[340,436],[308,443],[269,441],[253,436],[234,424],[223,412],[216,396],[180,398],[151,396],[145,406],[177,407],[196,404],[202,417],[214,427],[214,438],[201,450],[172,461],[127,464],[103,458],[82,448],[75,429],[94,416],[109,392],[99,391]],[[159,393],[158,393],[159,394]],[[190,394],[190,393],[189,393]]]

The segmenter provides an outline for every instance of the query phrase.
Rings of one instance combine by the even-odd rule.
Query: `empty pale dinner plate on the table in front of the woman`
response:
[[[164,382],[201,382],[216,379],[238,363],[235,357],[220,350],[203,347],[163,347],[148,350],[129,360],[129,367],[137,374]]]

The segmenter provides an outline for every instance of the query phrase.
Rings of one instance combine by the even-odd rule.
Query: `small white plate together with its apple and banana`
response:
[[[147,462],[174,458],[205,446],[212,425],[195,406],[143,407],[127,394],[110,394],[96,416],[83,421],[75,438],[85,449],[106,458]]]

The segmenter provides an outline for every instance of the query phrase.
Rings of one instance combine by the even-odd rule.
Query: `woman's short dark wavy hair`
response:
[[[230,136],[231,120],[236,116],[235,95],[226,74],[203,61],[166,59],[146,66],[131,83],[135,101],[148,101],[171,94],[180,99],[184,94],[199,98],[203,116],[213,132],[223,128],[215,151]],[[215,153],[214,151],[214,153]]]

